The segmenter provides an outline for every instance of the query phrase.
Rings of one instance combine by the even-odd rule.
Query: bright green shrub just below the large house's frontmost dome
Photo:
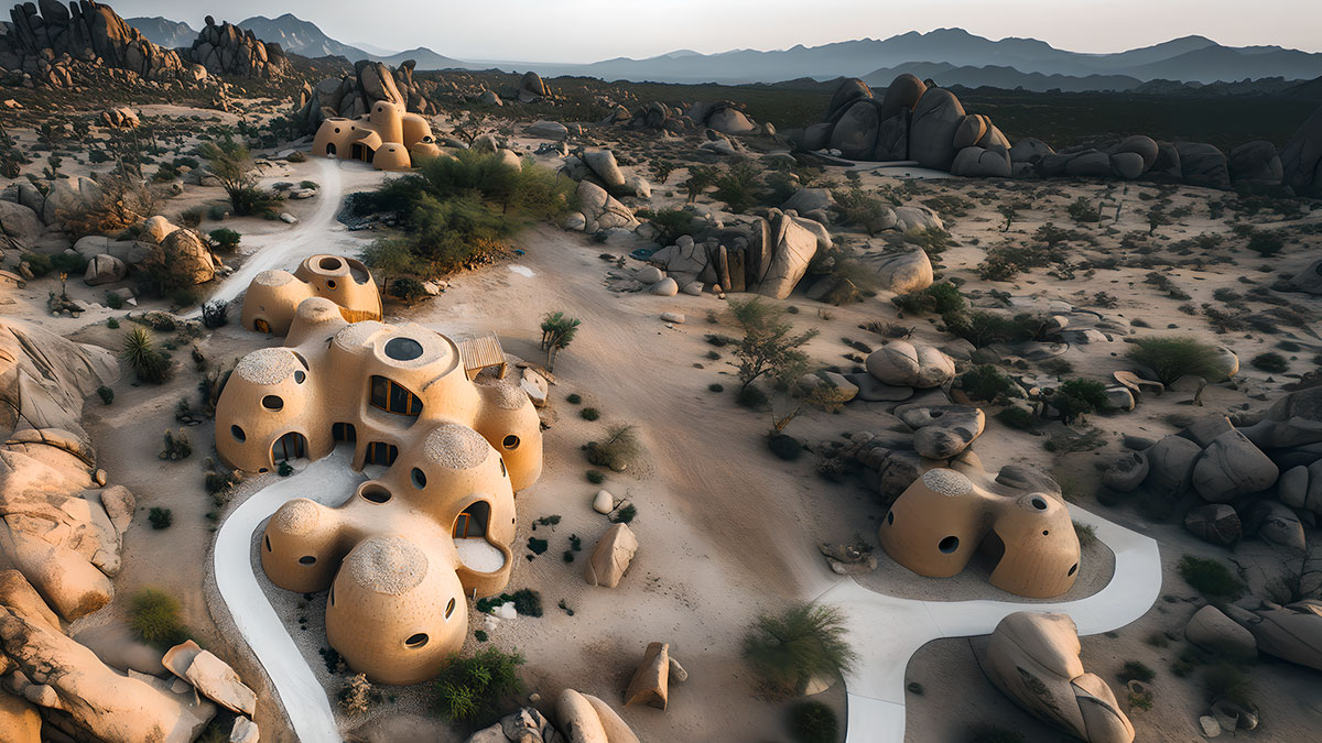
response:
[[[471,657],[451,656],[436,676],[436,707],[448,718],[483,722],[493,717],[505,697],[524,687],[518,666],[524,656],[485,646]]]

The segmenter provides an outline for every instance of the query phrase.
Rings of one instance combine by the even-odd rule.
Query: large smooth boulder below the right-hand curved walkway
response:
[[[1110,686],[1079,660],[1075,623],[1062,613],[1015,612],[997,624],[982,672],[1011,701],[1089,743],[1130,743],[1134,726]]]

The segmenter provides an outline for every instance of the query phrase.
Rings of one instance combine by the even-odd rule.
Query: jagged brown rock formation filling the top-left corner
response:
[[[9,17],[5,33],[0,33],[0,81],[5,85],[74,87],[104,79],[206,79],[205,67],[152,44],[95,0],[21,3]]]

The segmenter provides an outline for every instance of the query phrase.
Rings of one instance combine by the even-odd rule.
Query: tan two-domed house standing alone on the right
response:
[[[891,559],[919,575],[949,578],[982,549],[995,559],[989,580],[997,588],[1059,596],[1079,576],[1079,535],[1059,494],[1035,490],[929,469],[900,493],[878,538]]]

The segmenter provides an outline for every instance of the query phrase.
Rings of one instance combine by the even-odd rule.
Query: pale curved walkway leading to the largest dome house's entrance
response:
[[[258,583],[253,535],[278,508],[293,498],[338,505],[353,493],[353,483],[345,479],[348,472],[349,461],[337,451],[309,463],[297,475],[262,488],[221,525],[212,557],[221,598],[243,641],[271,678],[301,743],[340,743],[342,738],[325,690]]]

